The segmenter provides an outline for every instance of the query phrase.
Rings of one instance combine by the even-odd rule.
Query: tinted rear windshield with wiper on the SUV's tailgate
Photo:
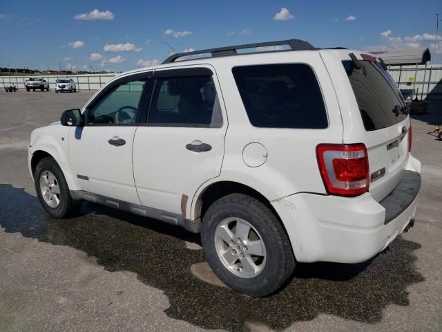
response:
[[[407,118],[396,112],[405,102],[390,74],[378,62],[360,61],[361,69],[354,68],[352,61],[343,61],[350,84],[361,111],[366,131],[390,127]]]

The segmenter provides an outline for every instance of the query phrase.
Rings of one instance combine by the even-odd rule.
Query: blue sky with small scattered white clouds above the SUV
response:
[[[442,1],[0,0],[0,66],[126,71],[177,52],[299,38],[317,47],[435,47]]]

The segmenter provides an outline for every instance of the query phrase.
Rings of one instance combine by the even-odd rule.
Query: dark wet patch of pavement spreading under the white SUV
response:
[[[388,304],[409,305],[407,286],[424,280],[414,267],[414,250],[421,246],[398,239],[363,264],[299,264],[287,288],[253,299],[193,276],[191,266],[204,257],[183,240],[199,243],[200,238],[181,228],[89,203],[74,219],[52,219],[35,196],[9,185],[0,185],[0,197],[10,198],[0,205],[6,232],[71,246],[97,257],[109,271],[137,273],[144,284],[167,295],[169,317],[204,329],[242,331],[246,322],[258,322],[280,330],[319,313],[379,322]]]

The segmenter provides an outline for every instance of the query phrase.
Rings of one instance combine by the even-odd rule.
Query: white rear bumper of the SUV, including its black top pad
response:
[[[298,261],[360,263],[381,252],[410,223],[420,185],[419,172],[406,171],[381,202],[369,193],[354,198],[301,193],[271,203]]]

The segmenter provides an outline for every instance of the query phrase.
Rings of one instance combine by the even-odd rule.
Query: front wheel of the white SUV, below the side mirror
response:
[[[41,206],[50,216],[66,218],[79,210],[81,201],[70,196],[66,178],[53,158],[39,161],[35,167],[34,183]]]

